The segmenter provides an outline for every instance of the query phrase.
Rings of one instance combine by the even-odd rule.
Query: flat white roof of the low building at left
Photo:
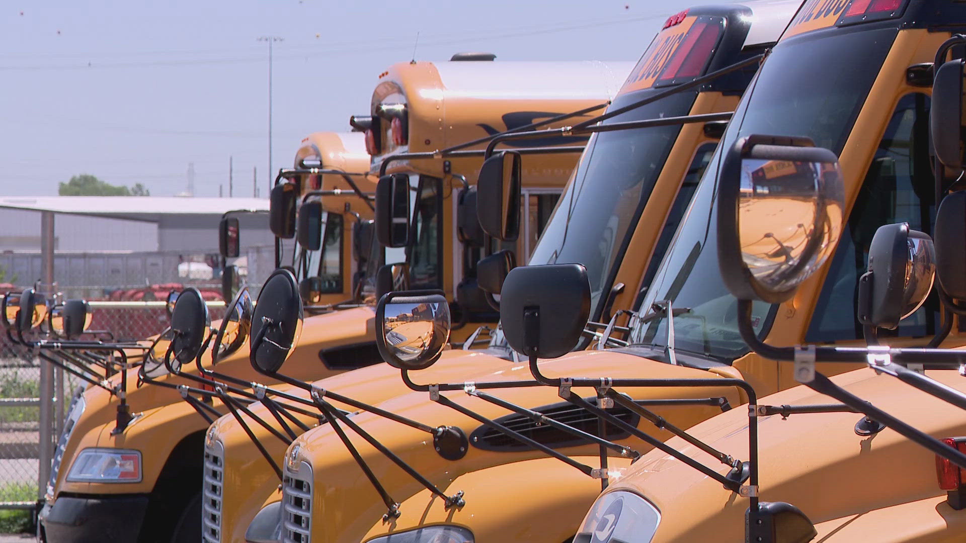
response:
[[[82,214],[158,221],[162,215],[269,211],[268,198],[187,198],[180,196],[6,196],[0,210]]]

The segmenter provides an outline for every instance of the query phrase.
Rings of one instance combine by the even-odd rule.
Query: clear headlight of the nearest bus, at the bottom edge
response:
[[[574,543],[650,543],[661,513],[633,492],[614,491],[594,502]]]

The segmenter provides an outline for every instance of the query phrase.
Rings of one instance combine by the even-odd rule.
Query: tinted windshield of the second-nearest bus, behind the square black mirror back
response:
[[[612,108],[646,98],[644,91]],[[605,124],[687,115],[695,92],[682,92],[628,111]],[[632,99],[633,100],[627,100]],[[627,233],[650,197],[681,126],[614,130],[591,136],[573,181],[560,197],[530,265],[580,263],[590,279],[591,315],[600,310]]]

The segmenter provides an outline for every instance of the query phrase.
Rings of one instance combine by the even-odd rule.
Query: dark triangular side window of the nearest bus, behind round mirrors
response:
[[[921,93],[908,94],[895,106],[838,241],[832,268],[806,332],[807,342],[863,338],[856,317],[859,277],[866,272],[868,246],[879,226],[908,222],[910,228],[931,234],[935,198],[929,166],[928,118],[929,98]],[[898,329],[881,330],[880,335],[932,334],[938,321],[937,309],[935,300],[930,298]]]

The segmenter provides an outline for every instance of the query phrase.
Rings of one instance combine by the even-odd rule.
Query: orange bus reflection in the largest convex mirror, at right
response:
[[[752,276],[755,298],[771,302],[784,300],[825,262],[842,228],[841,171],[835,155],[801,147],[790,148],[801,160],[770,157],[787,155],[788,149],[751,147],[740,160],[735,202],[744,268]]]

